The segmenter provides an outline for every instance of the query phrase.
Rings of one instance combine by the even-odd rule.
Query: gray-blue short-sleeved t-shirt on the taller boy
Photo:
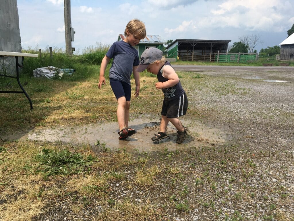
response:
[[[139,65],[138,51],[129,43],[119,41],[111,45],[106,56],[113,58],[109,78],[114,78],[130,85],[133,66]]]

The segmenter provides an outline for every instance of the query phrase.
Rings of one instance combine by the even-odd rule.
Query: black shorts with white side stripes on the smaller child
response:
[[[177,118],[184,116],[187,113],[187,109],[188,98],[186,93],[184,93],[181,97],[173,100],[163,99],[161,115],[167,118]]]

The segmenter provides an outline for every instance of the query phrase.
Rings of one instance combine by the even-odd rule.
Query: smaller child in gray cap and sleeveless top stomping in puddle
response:
[[[155,84],[156,89],[161,89],[164,94],[163,105],[161,110],[160,131],[151,138],[153,141],[160,141],[167,137],[166,128],[168,122],[178,130],[177,143],[184,142],[188,133],[188,128],[184,127],[178,117],[187,112],[188,99],[182,88],[181,82],[171,64],[162,56],[162,51],[158,48],[147,48],[141,55],[140,64],[137,72],[147,69],[157,75],[158,82]]]

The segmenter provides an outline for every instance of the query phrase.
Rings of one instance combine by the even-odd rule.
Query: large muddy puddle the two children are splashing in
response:
[[[134,128],[137,133],[126,140],[118,139],[118,123],[87,124],[82,126],[58,126],[55,128],[34,129],[21,137],[19,140],[39,140],[49,142],[67,142],[71,144],[90,144],[95,151],[103,148],[126,149],[128,151],[139,150],[175,150],[187,147],[199,147],[203,145],[221,145],[228,134],[224,130],[212,128],[204,124],[191,120],[182,120],[188,126],[189,132],[183,144],[176,143],[176,128],[169,123],[169,137],[162,139],[158,143],[151,141],[154,133],[159,131],[159,119],[154,120],[138,118],[129,122],[129,127]],[[99,145],[95,143],[99,141]]]

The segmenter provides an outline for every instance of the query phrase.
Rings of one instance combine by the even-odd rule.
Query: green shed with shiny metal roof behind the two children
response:
[[[124,34],[119,34],[117,41],[121,41],[125,39]],[[139,53],[139,57],[141,57],[143,51],[147,49],[148,47],[157,47],[160,50],[163,50],[163,44],[166,43],[166,40],[164,40],[160,35],[147,34],[144,39],[142,39],[138,45],[135,46]]]

